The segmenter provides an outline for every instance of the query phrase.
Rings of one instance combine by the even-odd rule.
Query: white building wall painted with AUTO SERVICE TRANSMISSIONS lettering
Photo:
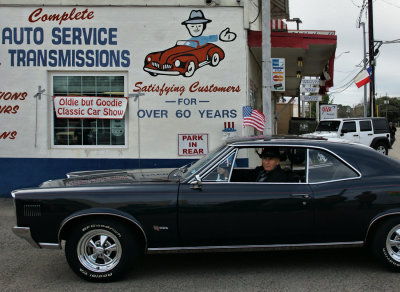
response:
[[[96,151],[107,148],[101,157],[175,159],[179,150],[171,137],[179,133],[208,133],[214,148],[227,134],[244,131],[240,109],[247,103],[248,68],[242,7],[21,5],[2,7],[0,19],[6,86],[0,92],[24,93],[18,100],[0,97],[1,157],[18,157],[16,149],[24,147],[24,157],[98,158]],[[123,76],[118,90],[101,81],[117,75]],[[88,77],[96,83],[85,81]],[[45,92],[35,99],[39,87]],[[102,98],[86,97],[110,93],[135,98],[99,108],[96,100]],[[116,127],[121,117],[124,123]],[[72,144],[54,142],[55,127],[70,131],[70,123],[57,118],[110,119],[101,123],[126,143],[89,145],[82,129],[81,144],[72,150]],[[236,132],[222,131],[224,122]],[[155,129],[164,147],[149,135]],[[208,151],[201,149],[198,156]]]

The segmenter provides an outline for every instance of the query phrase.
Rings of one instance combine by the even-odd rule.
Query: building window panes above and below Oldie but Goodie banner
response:
[[[125,96],[123,75],[53,75],[53,96]],[[54,146],[123,146],[125,117],[116,119],[61,119],[53,107]]]

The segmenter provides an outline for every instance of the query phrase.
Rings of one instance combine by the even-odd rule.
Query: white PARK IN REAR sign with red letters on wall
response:
[[[179,156],[198,156],[208,153],[208,134],[178,134]]]

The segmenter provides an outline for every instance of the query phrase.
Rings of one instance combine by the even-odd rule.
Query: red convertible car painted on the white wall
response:
[[[176,46],[162,52],[150,53],[144,59],[143,70],[152,76],[183,75],[191,77],[205,65],[217,66],[224,51],[211,43],[200,46],[199,41],[178,41]]]

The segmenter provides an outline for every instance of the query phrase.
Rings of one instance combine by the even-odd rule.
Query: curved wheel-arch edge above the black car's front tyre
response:
[[[102,216],[102,217],[108,216],[111,218],[116,218],[118,220],[122,220],[129,223],[131,226],[134,226],[134,228],[136,228],[136,230],[142,236],[145,250],[147,249],[147,236],[146,233],[144,232],[142,224],[132,215],[122,212],[120,210],[110,209],[110,208],[92,208],[92,209],[80,210],[76,213],[71,214],[70,216],[65,218],[60,224],[60,228],[58,231],[58,242],[61,243],[61,240],[65,239],[68,230],[74,225],[74,223],[78,222],[79,220],[85,218],[89,219],[90,217],[95,217],[95,216]]]

